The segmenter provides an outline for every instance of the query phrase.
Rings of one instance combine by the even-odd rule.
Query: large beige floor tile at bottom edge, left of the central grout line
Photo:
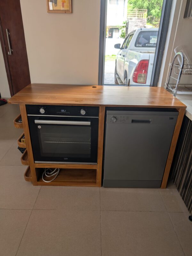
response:
[[[17,256],[101,255],[99,211],[33,210]]]

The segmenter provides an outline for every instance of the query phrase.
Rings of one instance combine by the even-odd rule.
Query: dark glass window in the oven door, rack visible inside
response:
[[[42,125],[38,132],[42,156],[90,157],[90,126]]]

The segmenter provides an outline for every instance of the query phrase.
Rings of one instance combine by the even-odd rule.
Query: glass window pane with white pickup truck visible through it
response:
[[[163,0],[107,0],[104,84],[150,85],[162,6]]]

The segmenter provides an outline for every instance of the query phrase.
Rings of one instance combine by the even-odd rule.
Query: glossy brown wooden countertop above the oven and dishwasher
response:
[[[186,108],[162,87],[29,84],[12,104]]]

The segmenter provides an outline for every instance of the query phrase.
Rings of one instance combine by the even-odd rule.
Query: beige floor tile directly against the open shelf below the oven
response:
[[[100,210],[100,190],[42,186],[34,209]]]

